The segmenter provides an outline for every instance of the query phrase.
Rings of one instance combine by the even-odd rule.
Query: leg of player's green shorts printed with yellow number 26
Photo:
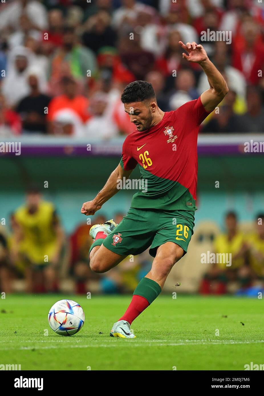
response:
[[[155,238],[152,242],[149,253],[155,257],[159,246],[172,242],[175,251],[179,251],[177,246],[183,250],[183,255],[186,254],[194,227],[194,214],[187,211],[166,211],[160,217],[159,231],[156,232]],[[173,245],[170,244],[170,246]],[[177,260],[178,261],[178,260]]]

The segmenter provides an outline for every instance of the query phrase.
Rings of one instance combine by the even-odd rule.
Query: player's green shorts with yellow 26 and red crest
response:
[[[150,246],[149,254],[155,257],[159,246],[174,242],[185,254],[193,227],[194,211],[130,208],[103,246],[119,255],[137,255]]]

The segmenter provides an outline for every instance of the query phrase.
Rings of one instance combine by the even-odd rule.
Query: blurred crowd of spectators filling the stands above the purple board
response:
[[[201,32],[231,32],[231,43]],[[201,133],[260,133],[264,11],[253,0],[9,0],[0,3],[0,135],[111,139],[134,131],[120,101],[134,80],[175,110],[209,88],[178,41],[201,43],[229,93]]]

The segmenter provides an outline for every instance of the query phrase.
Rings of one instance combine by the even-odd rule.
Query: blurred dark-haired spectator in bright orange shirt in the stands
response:
[[[48,106],[49,132],[55,135],[84,136],[84,125],[90,118],[89,102],[77,94],[77,83],[71,77],[61,79],[63,95],[54,97]]]

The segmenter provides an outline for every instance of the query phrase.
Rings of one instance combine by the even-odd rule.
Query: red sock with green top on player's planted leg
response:
[[[133,293],[129,307],[119,320],[126,320],[131,324],[158,297],[159,293],[161,287],[155,280],[142,278]]]

